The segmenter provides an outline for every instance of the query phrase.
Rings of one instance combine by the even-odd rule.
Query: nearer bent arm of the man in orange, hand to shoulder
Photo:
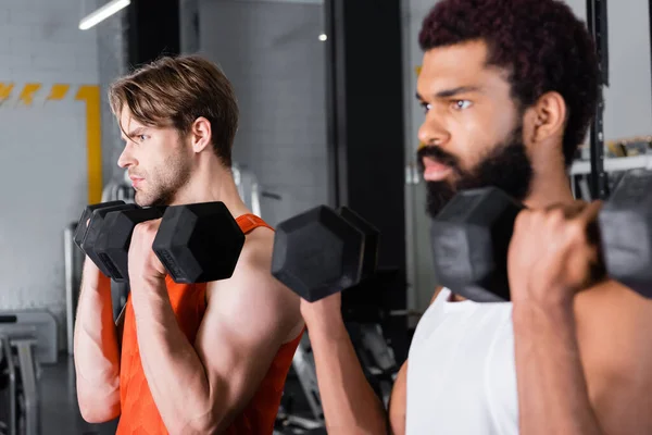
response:
[[[137,227],[130,257],[151,252],[156,227],[155,221]],[[164,281],[138,268],[129,271],[142,368],[171,433],[227,427],[253,397],[278,348],[303,327],[298,298],[269,274],[271,236],[253,234],[234,275],[209,284],[196,343],[179,328]]]

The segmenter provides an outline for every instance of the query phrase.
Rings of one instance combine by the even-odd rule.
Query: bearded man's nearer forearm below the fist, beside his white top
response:
[[[603,435],[589,400],[568,303],[514,303],[519,430],[524,434]]]

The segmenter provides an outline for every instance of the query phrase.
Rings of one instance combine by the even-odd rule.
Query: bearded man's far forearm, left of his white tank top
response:
[[[341,319],[308,332],[326,428],[337,434],[387,434],[387,413],[368,384]]]

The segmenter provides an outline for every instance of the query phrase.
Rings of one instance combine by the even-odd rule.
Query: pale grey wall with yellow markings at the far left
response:
[[[61,332],[62,232],[89,200],[100,142],[97,37],[80,14],[78,0],[0,2],[0,308],[49,310]]]

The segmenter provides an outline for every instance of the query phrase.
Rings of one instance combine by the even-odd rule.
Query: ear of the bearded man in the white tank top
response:
[[[536,142],[564,136],[567,108],[559,92],[543,94],[531,109],[532,138]]]

